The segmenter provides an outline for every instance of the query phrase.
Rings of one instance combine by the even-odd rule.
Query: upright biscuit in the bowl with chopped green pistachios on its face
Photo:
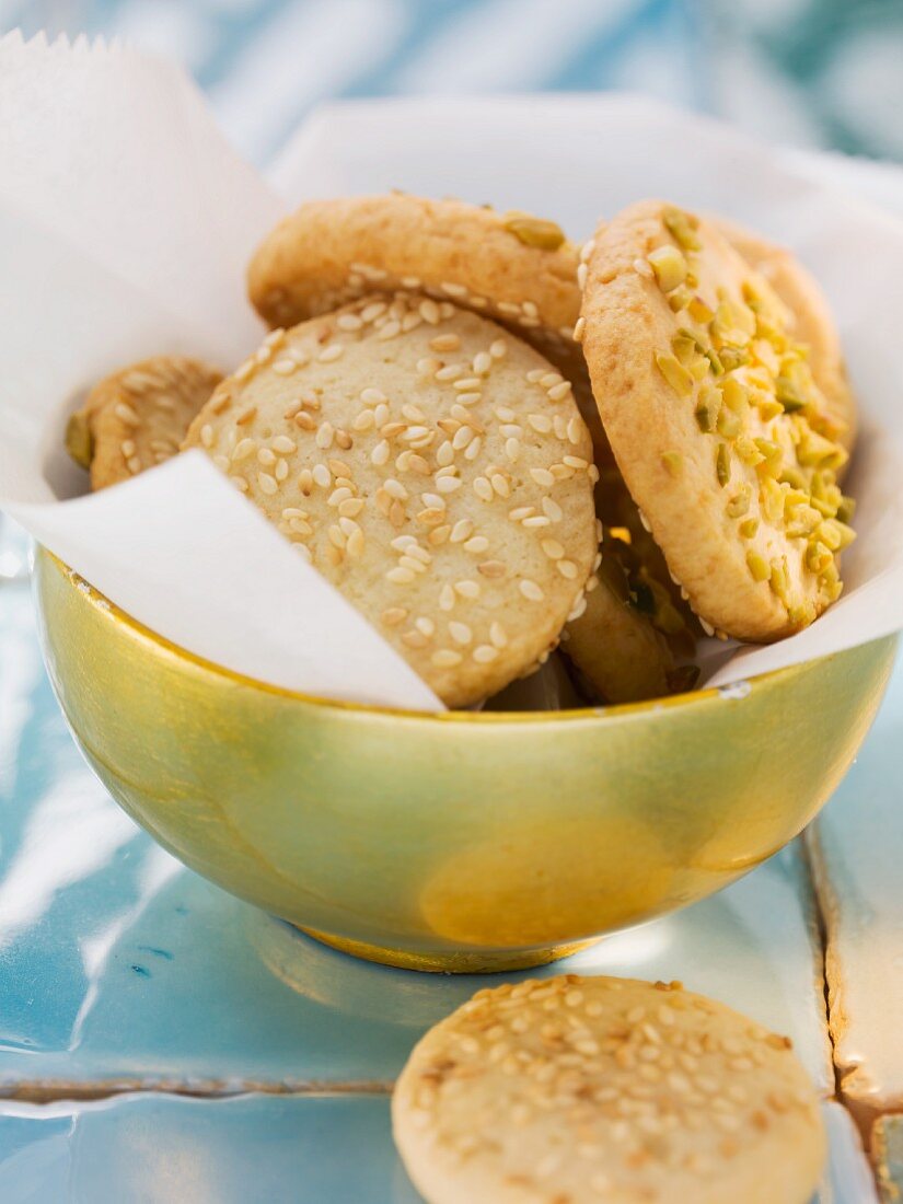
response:
[[[848,453],[785,307],[707,220],[642,201],[589,256],[583,348],[624,480],[709,633],[768,642],[840,594]]]

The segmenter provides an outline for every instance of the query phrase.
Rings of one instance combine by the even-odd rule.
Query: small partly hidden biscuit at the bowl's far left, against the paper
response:
[[[200,360],[157,355],[96,384],[66,427],[66,448],[89,470],[92,489],[129,480],[176,455],[222,379]]]

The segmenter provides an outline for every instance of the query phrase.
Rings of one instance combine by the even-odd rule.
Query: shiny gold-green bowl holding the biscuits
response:
[[[111,795],[191,869],[362,957],[536,966],[702,898],[850,765],[896,639],[608,709],[423,715],[197,660],[40,551],[45,651]]]

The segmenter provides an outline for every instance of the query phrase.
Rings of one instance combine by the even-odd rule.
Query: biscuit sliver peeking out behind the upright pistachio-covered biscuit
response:
[[[809,365],[837,423],[837,439],[852,450],[856,442],[856,397],[850,388],[840,337],[825,294],[796,255],[754,230],[725,218],[714,219],[734,250],[771,284],[787,311],[793,337],[809,348]]]

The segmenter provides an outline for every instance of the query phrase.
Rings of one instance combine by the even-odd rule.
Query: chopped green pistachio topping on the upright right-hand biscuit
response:
[[[739,536],[754,539],[765,523],[786,541],[786,555],[774,555],[780,545],[768,532],[769,556],[750,548],[746,563],[784,602],[790,622],[805,626],[825,598],[839,597],[837,557],[855,538],[855,506],[837,484],[848,459],[838,442],[843,430],[826,411],[808,348],[793,341],[790,315],[766,282],[754,277],[739,290],[722,285],[713,295],[695,254],[702,249],[698,219],[668,208],[663,222],[677,246],[654,249],[649,264],[685,325],[656,364],[692,405],[700,430],[719,436],[715,476],[722,488],[736,453],[739,482],[725,495],[725,513]],[[678,453],[663,454],[662,464],[674,476],[681,466]],[[798,566],[815,577],[818,601],[807,586],[797,594]]]

